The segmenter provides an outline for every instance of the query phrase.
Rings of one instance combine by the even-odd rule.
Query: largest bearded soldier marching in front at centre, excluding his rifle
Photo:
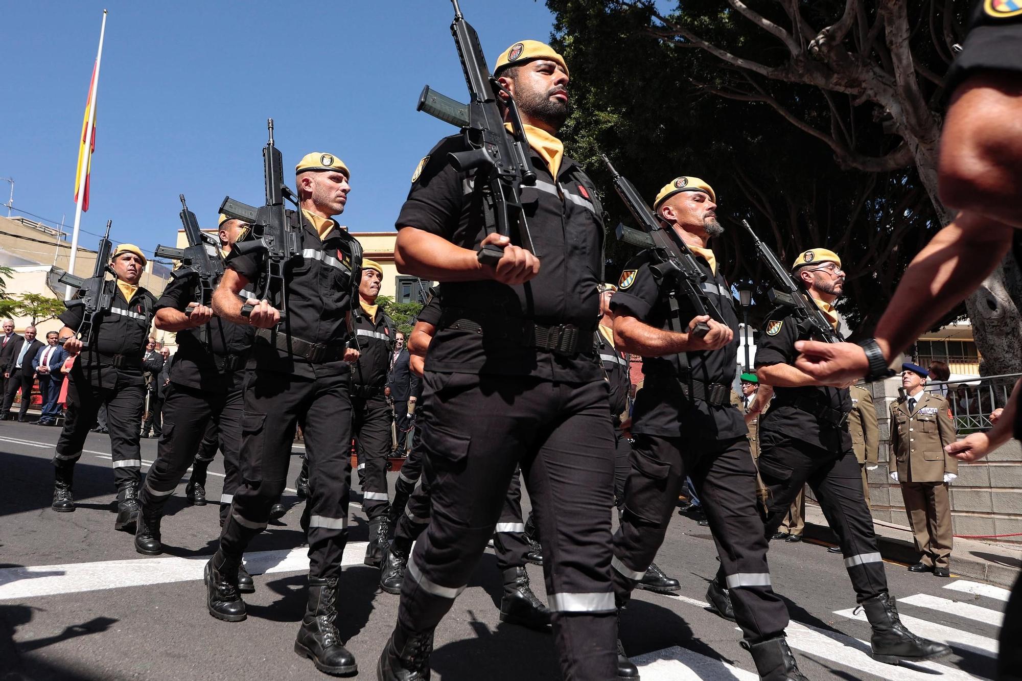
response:
[[[468,149],[460,134],[423,158],[397,221],[399,269],[444,282],[421,441],[426,474],[443,493],[408,562],[398,626],[377,667],[387,681],[428,677],[433,630],[485,548],[519,462],[540,534],[557,547],[544,573],[564,678],[616,674],[614,436],[593,351],[602,210],[555,137],[568,114],[564,59],[522,41],[502,53],[495,75],[518,101],[538,176],[521,187],[532,244],[487,225],[489,183],[473,183],[474,172],[449,155]],[[490,244],[503,247],[496,265],[478,259]],[[544,256],[542,267],[523,245]]]

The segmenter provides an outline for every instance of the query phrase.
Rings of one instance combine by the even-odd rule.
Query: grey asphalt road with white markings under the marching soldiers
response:
[[[56,438],[56,428],[0,423],[0,680],[327,678],[292,651],[308,566],[293,490],[285,493],[287,515],[251,546],[249,570],[263,574],[256,575],[256,593],[244,597],[248,619],[229,624],[205,611],[201,583],[219,531],[217,505],[189,506],[182,484],[162,524],[167,553],[141,556],[131,536],[113,531],[105,436],[90,436],[77,466],[78,510],[50,510]],[[155,440],[143,441],[146,462],[155,451]],[[292,458],[289,481],[299,463]],[[210,470],[207,495],[218,499],[219,458]],[[352,510],[338,626],[361,666],[359,678],[373,679],[398,597],[380,592],[377,571],[362,564],[367,526],[361,506],[353,503]],[[643,680],[756,679],[740,632],[705,609],[706,584],[716,570],[706,528],[676,516],[657,562],[681,580],[681,591],[639,591],[621,617],[621,638]],[[1004,589],[888,563],[902,621],[955,649],[939,663],[895,667],[865,653],[870,630],[852,611],[854,594],[840,556],[820,545],[775,542],[770,563],[776,591],[788,599],[789,642],[810,679],[993,677]],[[541,569],[530,565],[529,575],[544,597]],[[501,624],[500,593],[487,551],[437,629],[434,679],[558,677],[550,635]]]

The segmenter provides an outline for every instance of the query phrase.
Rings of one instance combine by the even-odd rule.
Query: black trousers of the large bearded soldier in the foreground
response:
[[[610,513],[614,436],[606,381],[437,373],[424,377],[430,521],[408,562],[399,622],[432,630],[466,587],[519,462],[544,542],[562,677],[616,678]]]

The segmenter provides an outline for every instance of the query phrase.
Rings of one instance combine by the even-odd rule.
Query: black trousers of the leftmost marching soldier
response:
[[[145,385],[140,375],[117,372],[112,388],[93,385],[76,364],[67,383],[67,413],[57,439],[53,465],[74,466],[82,458],[82,447],[89,429],[96,422],[100,405],[106,407],[106,427],[110,434],[110,455],[113,459],[113,482],[120,488],[138,484],[142,474],[142,454],[139,449],[139,426],[142,423],[142,400]]]

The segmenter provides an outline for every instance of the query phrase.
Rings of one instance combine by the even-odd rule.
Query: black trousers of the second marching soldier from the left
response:
[[[230,498],[240,478],[238,448],[244,371],[235,372],[231,380],[227,393],[202,391],[173,381],[164,388],[164,433],[159,438],[156,460],[146,473],[145,485],[139,495],[143,506],[161,512],[192,461],[207,464],[219,446],[224,452],[225,474],[220,512],[221,519],[226,520]],[[211,436],[212,445],[208,441]]]

